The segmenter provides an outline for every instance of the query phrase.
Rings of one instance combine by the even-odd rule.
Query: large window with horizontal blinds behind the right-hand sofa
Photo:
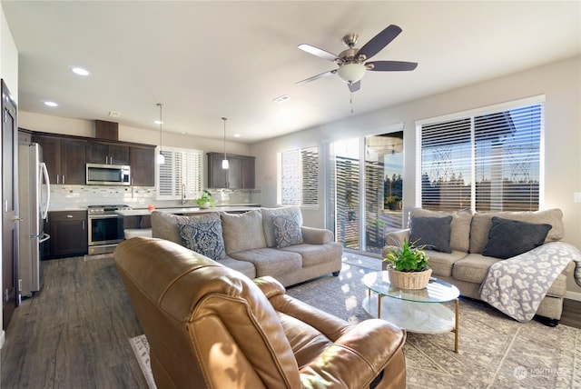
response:
[[[537,210],[543,100],[419,123],[417,204],[434,210]]]

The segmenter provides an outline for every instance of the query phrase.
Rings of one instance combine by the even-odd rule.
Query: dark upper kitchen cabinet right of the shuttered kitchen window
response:
[[[208,187],[252,189],[255,185],[254,157],[227,154],[228,169],[222,169],[222,153],[208,153]]]

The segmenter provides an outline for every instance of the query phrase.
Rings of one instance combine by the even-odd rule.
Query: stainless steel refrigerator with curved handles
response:
[[[18,145],[18,206],[20,243],[18,279],[20,294],[32,296],[43,285],[41,244],[50,238],[44,222],[50,203],[50,181],[38,144]]]

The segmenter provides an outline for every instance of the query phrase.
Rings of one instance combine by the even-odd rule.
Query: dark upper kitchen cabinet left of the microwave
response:
[[[51,184],[85,185],[86,141],[54,135],[33,135],[43,147]]]

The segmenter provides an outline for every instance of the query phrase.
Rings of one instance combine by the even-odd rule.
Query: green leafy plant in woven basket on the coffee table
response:
[[[389,283],[401,289],[423,289],[428,285],[432,269],[424,246],[416,247],[404,241],[401,247],[392,246],[383,262],[388,263]]]

